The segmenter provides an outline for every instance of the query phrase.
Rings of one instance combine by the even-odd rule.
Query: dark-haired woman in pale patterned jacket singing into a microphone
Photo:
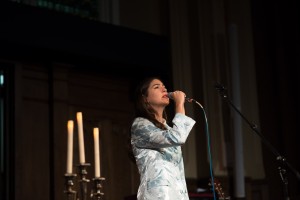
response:
[[[138,200],[188,200],[181,145],[195,124],[185,115],[185,94],[170,93],[175,105],[172,126],[166,123],[167,89],[158,78],[136,90],[131,147],[140,174]]]

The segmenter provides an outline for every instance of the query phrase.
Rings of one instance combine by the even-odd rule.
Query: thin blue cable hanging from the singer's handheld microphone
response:
[[[191,98],[186,98],[186,100],[188,102],[194,102],[194,103],[196,103],[197,105],[200,106],[200,108],[203,111],[203,115],[204,115],[204,118],[205,118],[205,133],[206,133],[206,138],[207,138],[207,148],[208,148],[208,156],[209,156],[209,171],[210,171],[212,192],[213,192],[213,195],[214,195],[214,200],[217,200],[216,191],[215,191],[215,181],[214,181],[213,167],[212,167],[212,154],[211,154],[211,147],[210,147],[210,134],[209,134],[209,129],[208,129],[208,122],[207,122],[206,113],[205,113],[205,110],[204,110],[203,106],[198,101],[196,101],[194,99],[191,99]]]

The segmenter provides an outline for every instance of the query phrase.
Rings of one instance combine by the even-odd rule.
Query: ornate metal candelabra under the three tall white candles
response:
[[[77,197],[76,190],[73,189],[74,180],[76,178],[76,174],[65,174],[65,193],[67,195],[67,200],[88,200],[88,183],[90,180],[87,178],[87,167],[89,167],[89,163],[83,163],[78,165],[79,171],[79,180],[78,183],[80,185],[80,198]],[[93,180],[93,186],[91,189],[90,199],[92,200],[101,200],[104,196],[102,192],[104,177],[95,177]]]

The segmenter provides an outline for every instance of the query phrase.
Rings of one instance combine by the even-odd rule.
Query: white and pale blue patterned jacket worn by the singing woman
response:
[[[195,121],[177,113],[167,130],[137,118],[131,129],[131,144],[140,173],[138,200],[188,200],[181,145]]]

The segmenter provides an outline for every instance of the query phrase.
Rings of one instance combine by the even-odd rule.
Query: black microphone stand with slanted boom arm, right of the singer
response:
[[[300,180],[300,173],[290,163],[288,163],[286,158],[280,155],[279,152],[271,145],[271,143],[258,131],[257,125],[249,122],[249,120],[247,120],[247,118],[236,108],[236,106],[228,98],[228,95],[225,93],[226,88],[219,83],[215,85],[215,88],[219,91],[221,97],[247,122],[250,128],[260,137],[262,142],[276,156],[276,160],[279,163],[278,171],[281,181],[283,183],[285,200],[290,200],[288,193],[288,179],[286,167],[288,167],[295,174],[298,180]]]

